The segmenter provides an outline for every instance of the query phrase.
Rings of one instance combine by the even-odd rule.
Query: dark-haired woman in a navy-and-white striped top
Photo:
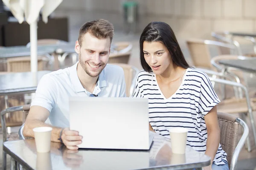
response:
[[[172,28],[151,22],[140,36],[140,62],[134,97],[149,102],[149,127],[170,138],[171,127],[188,128],[187,145],[211,157],[204,169],[228,170],[222,150],[216,105],[220,102],[201,71],[190,68]]]

